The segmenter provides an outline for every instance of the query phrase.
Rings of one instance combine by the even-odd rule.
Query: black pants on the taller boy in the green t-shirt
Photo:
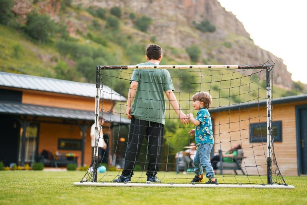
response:
[[[122,171],[123,176],[133,175],[135,163],[138,159],[138,153],[140,152],[144,137],[146,137],[148,141],[148,167],[146,175],[154,176],[157,174],[161,160],[163,132],[163,124],[138,120],[132,117],[125,155],[125,165],[124,170]]]

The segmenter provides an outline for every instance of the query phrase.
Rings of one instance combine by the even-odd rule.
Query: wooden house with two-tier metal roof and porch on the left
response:
[[[46,150],[73,153],[78,155],[78,165],[89,165],[95,89],[95,84],[0,72],[0,161],[5,166],[32,164]],[[126,101],[124,97],[107,86],[101,96],[109,147],[113,126],[130,120],[112,112],[116,101]],[[107,149],[105,156],[112,156],[111,152]]]

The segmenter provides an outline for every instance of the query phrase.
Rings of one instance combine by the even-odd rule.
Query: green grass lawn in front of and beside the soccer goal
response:
[[[293,190],[74,186],[84,174],[0,171],[0,204],[307,204],[307,177],[286,176]]]

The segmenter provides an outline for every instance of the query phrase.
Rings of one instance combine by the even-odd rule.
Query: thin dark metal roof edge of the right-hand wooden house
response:
[[[307,94],[275,98],[272,100],[272,105],[282,104],[282,103],[291,103],[291,102],[297,102],[297,101],[307,101]],[[243,108],[257,107],[257,106],[266,106],[266,100],[220,106],[218,108],[210,108],[209,111],[210,113],[214,113],[214,112],[222,112],[222,111],[228,111],[228,110],[237,110],[237,109],[243,109]]]

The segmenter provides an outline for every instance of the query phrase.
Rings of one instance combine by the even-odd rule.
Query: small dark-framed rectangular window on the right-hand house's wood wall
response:
[[[282,121],[272,122],[274,142],[282,142]],[[266,122],[250,124],[250,142],[266,142]]]

